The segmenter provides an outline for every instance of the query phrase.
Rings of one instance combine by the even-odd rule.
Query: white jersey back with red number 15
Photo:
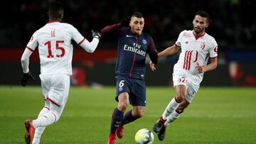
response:
[[[72,39],[78,44],[85,40],[72,25],[51,22],[33,33],[26,48],[33,52],[38,47],[41,74],[72,74]]]

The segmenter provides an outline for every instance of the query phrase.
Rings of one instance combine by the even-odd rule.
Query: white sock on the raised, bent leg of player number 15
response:
[[[38,127],[44,127],[48,126],[55,121],[55,115],[51,113],[50,111],[48,113],[44,113],[43,116],[37,118],[36,120],[33,120],[33,127],[38,128]]]

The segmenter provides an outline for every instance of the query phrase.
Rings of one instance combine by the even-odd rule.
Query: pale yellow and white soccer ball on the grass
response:
[[[151,144],[154,141],[154,135],[147,128],[142,128],[135,135],[137,144]]]

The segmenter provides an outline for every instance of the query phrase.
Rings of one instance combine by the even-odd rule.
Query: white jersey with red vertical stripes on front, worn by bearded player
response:
[[[174,72],[188,74],[196,79],[195,84],[200,84],[203,73],[198,74],[196,66],[205,66],[209,57],[218,56],[218,45],[215,39],[207,33],[196,37],[193,31],[182,31],[178,35],[176,45],[181,46],[181,54],[178,62],[174,65]]]

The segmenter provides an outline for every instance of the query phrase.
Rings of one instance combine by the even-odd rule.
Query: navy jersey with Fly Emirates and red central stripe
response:
[[[115,73],[127,77],[144,79],[146,54],[156,52],[151,35],[135,35],[129,28],[117,30],[117,64]]]

